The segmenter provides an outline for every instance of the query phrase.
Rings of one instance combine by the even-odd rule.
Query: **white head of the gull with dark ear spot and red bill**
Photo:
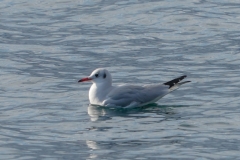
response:
[[[112,84],[112,76],[105,68],[95,69],[90,76],[80,79],[78,82],[92,81],[95,84]]]

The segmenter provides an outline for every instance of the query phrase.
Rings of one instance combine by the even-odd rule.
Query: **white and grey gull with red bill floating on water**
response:
[[[178,89],[180,85],[190,82],[181,82],[186,77],[186,75],[183,75],[162,84],[113,86],[109,71],[105,68],[98,68],[90,76],[82,78],[78,82],[91,81],[93,83],[89,90],[91,105],[133,108],[157,102],[163,96]]]

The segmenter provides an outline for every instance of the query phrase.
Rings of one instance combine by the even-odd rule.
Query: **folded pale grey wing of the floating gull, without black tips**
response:
[[[156,102],[168,93],[165,85],[123,85],[114,88],[103,102],[104,106],[131,106]]]

